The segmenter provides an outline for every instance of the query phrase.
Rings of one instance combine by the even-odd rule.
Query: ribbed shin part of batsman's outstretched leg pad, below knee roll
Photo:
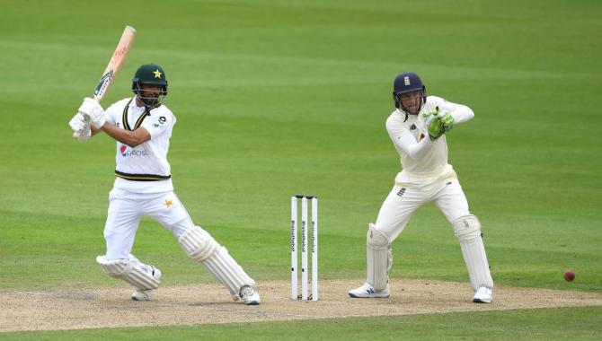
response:
[[[235,301],[238,300],[238,293],[244,285],[255,285],[255,281],[244,272],[224,247],[217,249],[213,256],[205,259],[201,264],[217,278],[219,283],[226,286]]]

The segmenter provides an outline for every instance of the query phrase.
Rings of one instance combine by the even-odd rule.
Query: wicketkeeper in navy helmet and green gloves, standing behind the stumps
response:
[[[349,292],[354,298],[389,297],[388,270],[393,264],[391,243],[421,205],[433,202],[451,223],[465,260],[473,302],[493,301],[493,280],[482,244],[481,223],[468,210],[468,202],[447,163],[446,134],[474,118],[472,109],[427,96],[418,74],[404,72],[394,79],[395,109],[386,130],[401,157],[402,171],[385,198],[375,224],[367,231],[367,280]]]

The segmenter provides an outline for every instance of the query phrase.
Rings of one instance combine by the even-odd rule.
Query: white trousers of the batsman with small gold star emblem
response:
[[[129,258],[140,218],[149,216],[171,231],[176,238],[194,226],[190,215],[173,191],[133,193],[113,188],[109,193],[109,213],[104,225],[108,260]]]

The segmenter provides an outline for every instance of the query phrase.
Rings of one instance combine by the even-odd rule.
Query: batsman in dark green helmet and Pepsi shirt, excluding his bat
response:
[[[140,66],[132,90],[134,97],[118,101],[106,111],[98,102],[84,99],[69,122],[80,141],[100,131],[117,141],[116,179],[104,226],[107,253],[97,257],[97,263],[108,275],[136,288],[132,300],[149,300],[161,284],[162,273],[138,260],[131,249],[140,218],[150,216],[171,231],[184,253],[226,286],[235,300],[259,304],[252,278],[225,247],[192,222],[173,192],[167,152],[176,119],[162,103],[167,95],[163,68]]]

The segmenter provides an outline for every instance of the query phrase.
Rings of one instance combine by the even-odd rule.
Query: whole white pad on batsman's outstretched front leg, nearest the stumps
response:
[[[199,261],[219,283],[226,286],[235,301],[239,299],[240,290],[244,285],[255,284],[255,281],[230,256],[228,250],[220,246],[200,227],[194,226],[186,230],[178,241],[181,249],[190,258]]]

